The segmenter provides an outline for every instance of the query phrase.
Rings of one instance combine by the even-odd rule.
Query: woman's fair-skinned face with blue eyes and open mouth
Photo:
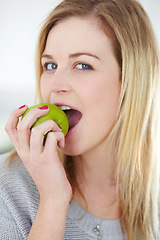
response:
[[[70,17],[54,26],[42,55],[44,102],[67,106],[71,129],[64,153],[101,149],[116,120],[120,70],[97,19]]]

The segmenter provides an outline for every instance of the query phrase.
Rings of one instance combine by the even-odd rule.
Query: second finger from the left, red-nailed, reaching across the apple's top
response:
[[[31,127],[37,121],[37,119],[45,114],[47,114],[49,109],[41,110],[39,108],[34,108],[30,110],[29,113],[19,122],[18,129],[18,140],[20,147],[25,151],[30,150],[30,136],[31,136]]]

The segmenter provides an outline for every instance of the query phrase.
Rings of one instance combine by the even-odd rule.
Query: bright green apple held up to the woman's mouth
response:
[[[42,106],[48,106],[49,107],[49,112],[37,119],[37,121],[32,125],[32,127],[35,127],[47,120],[53,120],[56,124],[58,124],[62,128],[62,132],[64,135],[67,134],[68,128],[69,128],[69,122],[68,118],[65,114],[64,111],[62,111],[59,107],[51,104],[51,103],[39,103],[36,105],[33,105],[29,107],[22,115],[22,119],[25,117],[25,115],[33,108],[40,108]]]

